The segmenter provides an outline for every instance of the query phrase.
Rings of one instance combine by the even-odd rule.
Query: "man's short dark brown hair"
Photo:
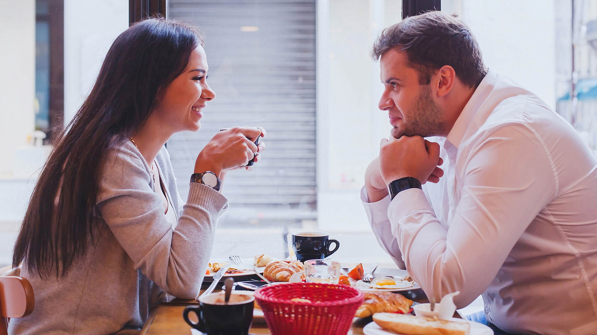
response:
[[[457,15],[430,11],[407,17],[381,32],[371,58],[379,60],[393,48],[406,52],[421,85],[428,85],[432,72],[444,65],[453,67],[458,79],[473,88],[487,75],[479,44]]]

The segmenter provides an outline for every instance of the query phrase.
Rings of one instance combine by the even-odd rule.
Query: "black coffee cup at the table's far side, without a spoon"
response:
[[[334,250],[330,250],[336,243]],[[338,250],[340,242],[330,240],[330,235],[323,231],[298,231],[293,233],[293,251],[300,262],[309,259],[324,259]]]

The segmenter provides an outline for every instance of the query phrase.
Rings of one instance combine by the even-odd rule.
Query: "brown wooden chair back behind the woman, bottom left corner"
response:
[[[0,270],[5,270],[2,268]],[[20,268],[11,273],[19,273]],[[14,275],[0,277],[0,335],[8,335],[8,320],[22,318],[33,312],[35,297],[28,280]]]

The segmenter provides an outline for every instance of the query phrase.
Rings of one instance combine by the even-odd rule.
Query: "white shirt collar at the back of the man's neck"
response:
[[[475,114],[481,105],[487,100],[491,91],[493,91],[496,86],[496,81],[496,73],[488,71],[487,75],[481,80],[481,83],[479,83],[479,86],[477,86],[475,92],[460,112],[456,122],[454,122],[454,126],[446,137],[446,142],[450,142],[450,144],[454,145],[456,148],[460,146],[464,134],[466,134],[466,130],[469,128],[470,122],[472,122],[473,117],[475,117]]]

